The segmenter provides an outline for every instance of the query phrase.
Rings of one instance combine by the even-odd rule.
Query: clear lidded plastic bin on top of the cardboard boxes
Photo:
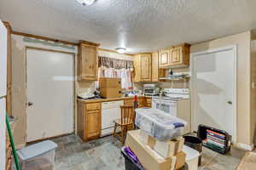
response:
[[[136,109],[135,124],[145,133],[158,139],[166,141],[182,136],[183,129],[187,122],[164,111],[152,108]]]

